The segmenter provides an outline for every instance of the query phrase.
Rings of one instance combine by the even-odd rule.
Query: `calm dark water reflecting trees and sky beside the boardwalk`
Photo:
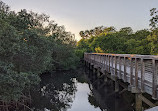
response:
[[[116,96],[111,85],[92,86],[83,69],[45,74],[41,79],[31,93],[33,111],[133,111],[132,103]]]

